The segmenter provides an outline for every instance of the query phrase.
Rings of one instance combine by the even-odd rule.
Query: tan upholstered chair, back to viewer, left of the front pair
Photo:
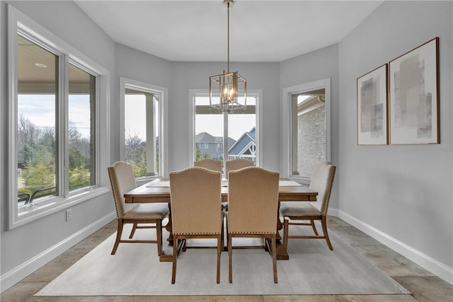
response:
[[[178,240],[217,238],[217,283],[220,282],[220,254],[224,248],[222,173],[201,167],[170,173],[171,220],[173,231],[173,270],[176,281]]]

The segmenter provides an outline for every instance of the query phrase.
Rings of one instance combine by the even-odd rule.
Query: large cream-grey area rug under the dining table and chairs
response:
[[[311,228],[290,228],[292,233],[302,230]],[[125,238],[129,231],[125,228]],[[221,279],[216,284],[216,249],[188,248],[178,257],[176,284],[171,284],[172,264],[159,262],[156,244],[120,243],[116,254],[110,255],[113,234],[36,296],[410,294],[335,233],[330,231],[329,235],[333,251],[325,240],[289,240],[289,260],[277,261],[278,284],[273,282],[272,257],[260,248],[233,250],[231,284],[228,252],[222,252]],[[155,238],[154,229],[139,229],[134,236],[151,237]],[[200,241],[188,245],[197,243],[200,245]]]

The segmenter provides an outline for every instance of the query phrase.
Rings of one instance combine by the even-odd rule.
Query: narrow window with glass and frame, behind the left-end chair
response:
[[[121,158],[132,165],[137,180],[164,176],[168,165],[164,108],[167,89],[120,78],[121,107],[124,112]]]

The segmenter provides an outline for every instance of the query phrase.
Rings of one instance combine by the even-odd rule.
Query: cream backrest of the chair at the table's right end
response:
[[[311,204],[319,209],[322,215],[327,214],[335,172],[335,165],[332,165],[328,161],[322,161],[316,165],[313,175],[311,176],[310,189],[318,192],[316,202],[311,202]]]

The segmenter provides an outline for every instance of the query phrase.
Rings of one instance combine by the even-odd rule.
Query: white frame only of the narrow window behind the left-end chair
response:
[[[168,178],[168,88],[120,76],[120,158],[125,160],[125,89],[132,87],[139,91],[146,89],[159,93],[159,175],[137,179],[141,185],[154,178]]]

